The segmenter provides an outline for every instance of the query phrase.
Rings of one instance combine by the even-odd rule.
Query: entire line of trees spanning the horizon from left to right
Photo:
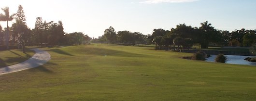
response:
[[[61,21],[57,23],[43,21],[42,17],[37,17],[35,27],[28,28],[26,16],[21,5],[18,6],[17,13],[10,14],[9,8],[2,8],[0,21],[7,22],[7,27],[2,30],[0,26],[0,48],[5,44],[9,50],[16,45],[22,49],[25,46],[57,46],[57,45],[81,45],[88,43],[91,38],[82,32],[65,33]],[[9,28],[9,21],[15,22]],[[200,27],[179,24],[171,30],[154,29],[152,34],[143,35],[140,32],[130,32],[128,30],[116,32],[112,26],[104,31],[99,38],[94,38],[92,42],[112,43],[123,45],[155,44],[156,50],[189,49],[193,45],[200,45],[201,48],[209,46],[252,46],[256,43],[256,30],[235,30],[232,32],[215,29],[208,21],[201,23]],[[171,47],[172,46],[172,47]],[[177,47],[177,48],[176,48]],[[24,50],[25,52],[25,50]]]

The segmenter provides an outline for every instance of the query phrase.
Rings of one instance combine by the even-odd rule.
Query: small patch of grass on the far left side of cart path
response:
[[[34,51],[28,49],[26,50],[26,53],[23,53],[22,50],[0,51],[0,67],[24,62],[34,53]]]

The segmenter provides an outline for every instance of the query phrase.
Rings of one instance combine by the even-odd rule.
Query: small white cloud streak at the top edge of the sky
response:
[[[194,2],[198,0],[146,0],[140,3],[183,3],[183,2]]]

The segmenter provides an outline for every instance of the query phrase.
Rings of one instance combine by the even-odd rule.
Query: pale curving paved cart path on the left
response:
[[[49,60],[51,60],[51,55],[47,51],[39,50],[39,49],[30,49],[35,51],[35,54],[29,58],[27,61],[6,66],[6,67],[0,67],[0,75],[3,74],[9,74],[14,73],[34,67],[38,67],[40,65],[43,65],[44,63],[47,63]]]

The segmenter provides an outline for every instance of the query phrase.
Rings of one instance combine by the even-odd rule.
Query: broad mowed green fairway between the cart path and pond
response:
[[[0,101],[255,101],[256,67],[94,44],[44,48],[43,66],[0,76]]]

